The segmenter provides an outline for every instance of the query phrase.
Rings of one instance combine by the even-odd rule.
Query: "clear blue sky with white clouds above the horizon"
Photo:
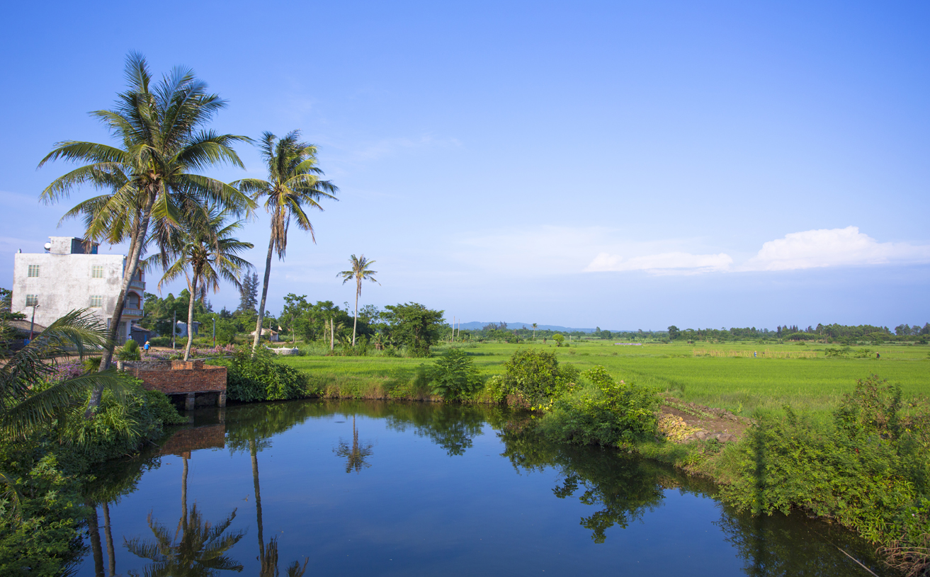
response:
[[[16,250],[80,235],[56,227],[89,190],[41,205],[69,166],[35,166],[107,141],[86,112],[139,50],[229,99],[216,129],[320,147],[340,200],[316,244],[291,232],[272,311],[351,301],[336,273],[364,253],[363,304],[464,321],[930,321],[926,4],[106,4],[7,7],[0,286]],[[211,175],[263,177],[239,152]],[[259,265],[267,226],[243,234]]]

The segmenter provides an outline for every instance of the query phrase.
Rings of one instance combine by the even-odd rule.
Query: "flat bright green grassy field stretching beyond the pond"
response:
[[[603,365],[615,378],[657,387],[681,400],[722,407],[737,414],[755,410],[780,411],[785,404],[823,412],[835,406],[856,379],[878,374],[901,386],[906,397],[930,394],[930,347],[873,346],[870,358],[826,358],[833,345],[777,344],[646,344],[617,346],[601,340],[572,342],[556,348],[541,342],[523,345],[465,345],[482,374],[502,374],[503,363],[518,348],[554,351],[560,362],[584,370]],[[443,348],[435,348],[441,353]],[[857,350],[857,348],[853,348]],[[753,358],[756,351],[759,357]],[[881,359],[875,359],[875,352]],[[287,364],[312,375],[319,383],[350,390],[365,390],[410,379],[430,359],[392,357],[283,358]]]

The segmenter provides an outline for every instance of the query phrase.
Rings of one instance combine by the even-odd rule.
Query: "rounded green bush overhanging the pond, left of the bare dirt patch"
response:
[[[540,432],[552,440],[579,444],[618,445],[656,434],[661,400],[648,387],[615,382],[596,366],[581,374],[581,383],[551,401]]]

